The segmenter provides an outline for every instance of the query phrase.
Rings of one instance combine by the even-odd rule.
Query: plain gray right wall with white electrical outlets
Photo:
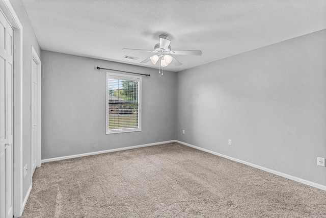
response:
[[[326,185],[325,60],[322,30],[178,72],[177,140]]]

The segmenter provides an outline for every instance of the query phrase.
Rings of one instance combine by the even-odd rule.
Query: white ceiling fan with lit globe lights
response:
[[[142,49],[123,49],[123,50],[132,50],[132,51],[142,51],[150,52],[154,55],[146,58],[141,63],[147,63],[151,61],[153,64],[159,62],[159,73],[160,67],[166,67],[170,63],[173,63],[176,66],[180,66],[181,63],[173,55],[197,55],[201,56],[202,51],[194,50],[171,50],[171,40],[167,39],[167,35],[161,34],[159,37],[159,43],[155,44],[154,50],[142,50]],[[163,73],[162,73],[163,75]]]

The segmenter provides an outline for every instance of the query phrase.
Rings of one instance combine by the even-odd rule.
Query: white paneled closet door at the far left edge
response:
[[[0,12],[0,218],[13,217],[13,29]]]

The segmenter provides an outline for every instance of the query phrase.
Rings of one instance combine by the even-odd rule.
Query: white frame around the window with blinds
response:
[[[109,78],[126,79],[126,80],[139,80],[139,88],[138,88],[138,128],[108,130],[108,79]],[[126,74],[117,74],[116,72],[107,71],[106,72],[106,101],[105,102],[106,102],[106,110],[105,110],[105,113],[106,113],[106,122],[105,122],[106,134],[142,131],[142,77],[133,76],[133,75],[126,75]]]

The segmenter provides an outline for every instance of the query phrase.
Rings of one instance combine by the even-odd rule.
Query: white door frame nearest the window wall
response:
[[[33,74],[33,61],[35,61],[37,65],[37,138],[36,138],[36,167],[41,166],[41,60],[40,57],[37,55],[33,45],[31,45],[31,87],[33,85],[32,81],[32,74]],[[31,124],[32,124],[32,95],[33,90],[31,88]],[[31,127],[32,128],[32,127]],[[31,145],[32,145],[32,129],[31,129]],[[31,184],[32,184],[32,166],[33,166],[33,160],[32,160],[32,151],[31,151]]]

